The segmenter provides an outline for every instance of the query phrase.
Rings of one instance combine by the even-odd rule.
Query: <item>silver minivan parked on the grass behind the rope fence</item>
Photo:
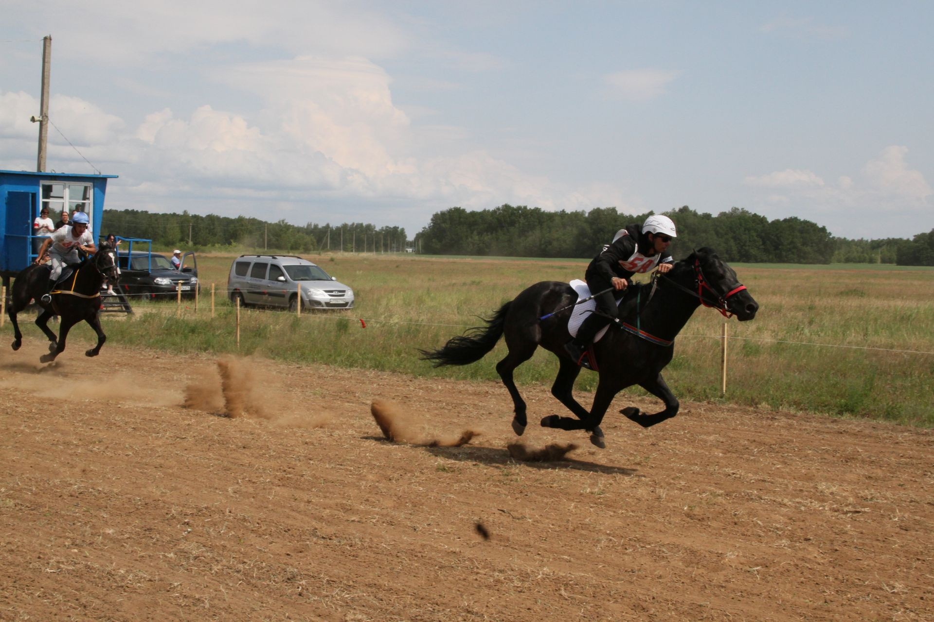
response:
[[[352,309],[353,290],[317,264],[294,255],[241,255],[233,260],[227,291],[240,306]],[[301,296],[299,292],[301,291]]]

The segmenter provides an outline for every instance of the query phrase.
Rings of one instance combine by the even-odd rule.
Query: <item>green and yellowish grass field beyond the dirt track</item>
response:
[[[538,281],[582,278],[586,260],[412,255],[308,256],[353,287],[350,311],[242,312],[240,345],[224,296],[233,255],[199,256],[198,311],[184,301],[134,303],[128,318],[106,316],[112,342],[173,352],[241,352],[296,363],[375,368],[432,378],[499,380],[501,342],[479,363],[433,369],[418,348],[435,348],[479,325],[502,302]],[[729,373],[720,392],[724,318],[698,310],[675,344],[664,375],[681,399],[800,409],[934,425],[934,270],[880,266],[736,265],[760,305],[756,320],[728,322]],[[216,286],[215,317],[210,313]],[[363,328],[360,320],[366,327]],[[27,320],[27,339],[41,339]],[[11,336],[9,325],[5,330]],[[87,326],[76,337],[90,339]],[[540,350],[517,382],[550,385],[557,359]],[[582,390],[597,375],[583,372]],[[505,391],[505,389],[503,389]],[[643,394],[641,389],[630,389]]]

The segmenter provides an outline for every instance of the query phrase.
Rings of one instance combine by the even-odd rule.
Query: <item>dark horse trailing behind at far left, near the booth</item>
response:
[[[13,323],[15,339],[13,350],[19,350],[22,345],[20,325],[16,322],[16,314],[26,308],[31,298],[42,308],[42,312],[35,318],[35,325],[42,329],[51,341],[49,353],[43,354],[39,360],[43,363],[54,361],[55,357],[64,352],[65,339],[71,327],[84,320],[97,333],[97,345],[84,352],[87,356],[97,356],[101,351],[107,337],[101,330],[101,320],[98,311],[101,309],[101,285],[106,278],[110,283],[117,283],[120,273],[114,262],[114,255],[110,246],[102,243],[94,256],[85,259],[73,267],[70,275],[64,276],[52,290],[52,301],[49,304],[41,302],[40,298],[46,293],[49,285],[50,266],[33,264],[22,270],[13,283],[12,296],[7,309],[10,321]],[[62,318],[61,330],[58,339],[49,328],[52,315]]]

